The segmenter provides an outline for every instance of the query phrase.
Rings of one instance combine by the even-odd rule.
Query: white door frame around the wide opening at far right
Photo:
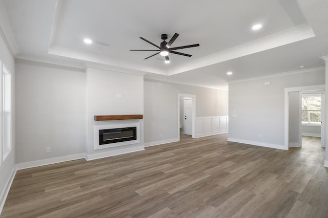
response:
[[[289,149],[289,93],[290,92],[302,92],[302,91],[324,91],[325,85],[310,85],[310,86],[299,86],[292,88],[284,88],[284,148],[285,150]],[[324,120],[323,120],[324,122]],[[325,125],[325,123],[322,123]],[[301,131],[301,130],[300,130]]]

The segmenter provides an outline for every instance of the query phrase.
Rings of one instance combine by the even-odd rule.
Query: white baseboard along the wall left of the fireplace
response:
[[[18,163],[16,164],[16,169],[27,169],[31,167],[37,167],[37,166],[44,166],[49,164],[55,164],[65,161],[72,161],[77,159],[83,159],[85,158],[85,153],[76,154],[76,155],[68,155],[63,157],[56,157],[56,158],[49,158],[44,160],[37,160],[37,161],[30,161],[25,163]]]

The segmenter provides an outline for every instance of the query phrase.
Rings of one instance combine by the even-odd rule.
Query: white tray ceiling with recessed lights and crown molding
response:
[[[10,46],[23,59],[228,89],[231,80],[323,66],[319,57],[328,55],[326,0],[2,1],[16,39]],[[251,30],[257,23],[263,28]],[[171,47],[200,47],[177,50],[192,57],[170,54],[169,64],[160,55],[144,60],[156,52],[129,51],[156,49],[139,37],[159,45],[163,33],[180,34]],[[86,45],[85,37],[110,46]]]

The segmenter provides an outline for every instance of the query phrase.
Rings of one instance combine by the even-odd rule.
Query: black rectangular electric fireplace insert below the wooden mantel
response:
[[[137,139],[137,127],[99,129],[99,145]]]

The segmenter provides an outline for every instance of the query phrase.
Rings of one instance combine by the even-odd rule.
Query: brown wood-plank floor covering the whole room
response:
[[[4,217],[328,217],[320,139],[289,151],[198,139],[18,170]]]

